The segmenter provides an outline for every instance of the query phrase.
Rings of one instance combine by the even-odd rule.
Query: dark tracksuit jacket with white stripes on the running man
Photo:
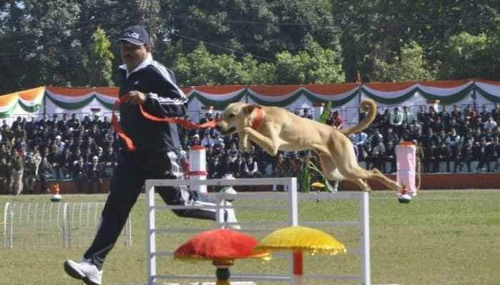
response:
[[[120,96],[138,90],[147,96],[143,105],[147,113],[157,117],[182,117],[186,114],[187,98],[176,86],[174,73],[154,61],[151,54],[131,73],[126,71],[126,66],[120,66],[119,71]],[[136,145],[137,152],[172,151],[179,147],[177,126],[144,118],[139,105],[121,104],[120,125]],[[121,147],[125,149],[123,141]]]

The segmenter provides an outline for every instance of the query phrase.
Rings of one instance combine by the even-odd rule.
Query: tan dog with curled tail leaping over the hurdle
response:
[[[217,129],[223,135],[238,133],[240,150],[249,150],[248,140],[270,155],[276,155],[278,150],[314,149],[329,180],[349,180],[363,191],[370,191],[366,180],[376,180],[391,190],[399,191],[400,185],[379,170],[365,170],[358,165],[354,147],[347,136],[361,132],[373,122],[376,104],[374,100],[363,100],[361,109],[369,112],[364,120],[353,128],[337,130],[315,120],[301,118],[284,108],[232,103],[222,113]]]

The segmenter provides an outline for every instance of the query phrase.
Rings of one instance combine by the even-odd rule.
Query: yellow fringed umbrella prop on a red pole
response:
[[[294,254],[294,284],[302,284],[303,252],[311,254],[344,254],[346,247],[331,235],[309,227],[286,227],[277,229],[254,247],[254,250],[292,251]]]

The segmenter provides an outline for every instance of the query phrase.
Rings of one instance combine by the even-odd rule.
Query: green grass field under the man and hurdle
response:
[[[65,195],[64,202],[104,201],[104,195]],[[5,202],[45,202],[49,196],[0,196],[0,214]],[[160,201],[159,201],[160,202]],[[249,202],[236,201],[234,204]],[[259,202],[261,204],[261,202]],[[268,201],[269,204],[280,203]],[[399,204],[396,195],[373,192],[371,206],[371,274],[373,284],[500,284],[500,191],[421,191],[410,204]],[[301,202],[300,219],[308,221],[352,220],[354,202]],[[241,221],[280,221],[281,210],[238,212]],[[133,246],[119,246],[104,266],[104,284],[144,284],[145,258],[144,196],[132,212]],[[164,227],[213,227],[214,223],[180,219],[171,212],[157,214]],[[348,247],[358,247],[354,227],[324,229]],[[263,234],[254,234],[263,237]],[[190,234],[170,234],[157,239],[159,249],[176,249]],[[0,284],[80,284],[63,271],[65,259],[79,259],[85,247],[64,249],[41,247],[41,237],[31,247],[0,249]],[[213,274],[209,262],[185,263],[164,258],[160,274]],[[359,257],[306,257],[304,272],[314,274],[357,274]],[[231,272],[284,273],[286,259],[236,261]],[[258,284],[267,284],[258,282]],[[283,284],[283,283],[281,283]],[[356,284],[351,281],[311,281],[307,284]]]

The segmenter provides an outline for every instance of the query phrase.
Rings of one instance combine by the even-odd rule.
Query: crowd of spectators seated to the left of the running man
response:
[[[0,193],[48,191],[50,180],[74,180],[79,192],[99,191],[116,165],[119,144],[108,118],[72,114],[17,117],[0,127]],[[94,186],[96,185],[96,186]]]

